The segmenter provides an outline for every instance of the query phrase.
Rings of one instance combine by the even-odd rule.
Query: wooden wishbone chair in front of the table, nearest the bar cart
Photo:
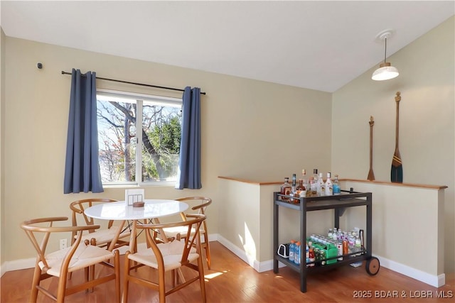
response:
[[[124,283],[122,302],[128,302],[129,283],[150,287],[159,292],[159,302],[166,302],[166,296],[172,294],[193,282],[199,281],[201,298],[206,302],[203,260],[200,248],[200,225],[205,221],[203,214],[188,215],[186,221],[164,224],[136,224],[133,228],[144,231],[146,248],[139,248],[137,253],[127,250],[124,257]],[[184,227],[185,233],[178,234],[176,238],[166,243],[156,241],[156,232],[166,227]],[[192,233],[192,229],[196,232]],[[149,273],[144,275],[140,268],[154,268],[158,277],[154,278]],[[186,272],[185,279],[180,280],[176,270],[186,267],[191,272]],[[166,273],[170,272],[172,287],[166,288]],[[194,275],[196,272],[196,275]],[[150,278],[145,278],[150,277]]]

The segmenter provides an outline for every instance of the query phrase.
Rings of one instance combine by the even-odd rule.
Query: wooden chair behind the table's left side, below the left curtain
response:
[[[93,206],[97,203],[109,203],[117,202],[114,199],[82,199],[75,202],[71,202],[70,209],[73,211],[72,222],[73,226],[94,226],[95,221],[93,218],[87,216],[84,211],[90,206]],[[118,226],[113,226],[114,221],[110,220],[107,224],[107,228],[95,229],[91,228],[88,230],[88,233],[82,235],[82,241],[88,240],[90,244],[94,246],[106,247],[109,248],[110,243],[114,239],[116,233],[118,232]],[[112,249],[119,248],[121,246],[129,245],[129,236],[131,232],[129,228],[121,231],[119,234],[118,240],[114,243]],[[71,237],[71,244],[74,243],[76,237],[76,231],[73,232]],[[122,240],[128,238],[127,240]]]

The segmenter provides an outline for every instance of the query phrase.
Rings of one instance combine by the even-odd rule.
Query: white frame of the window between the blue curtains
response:
[[[98,96],[105,96],[109,98],[122,98],[122,102],[124,99],[134,99],[137,104],[137,113],[136,113],[136,176],[140,176],[140,181],[136,180],[127,182],[102,182],[103,187],[147,187],[147,186],[175,186],[177,180],[169,180],[169,181],[147,181],[144,182],[142,180],[142,132],[138,131],[138,129],[142,128],[142,113],[143,113],[143,103],[144,101],[152,101],[156,105],[161,106],[171,106],[171,107],[180,107],[182,108],[183,100],[181,98],[176,97],[167,97],[167,96],[159,96],[159,95],[152,95],[152,94],[143,94],[143,93],[136,93],[136,92],[127,92],[127,91],[119,91],[114,89],[102,89],[97,88],[97,99]],[[140,110],[139,110],[140,109]],[[140,128],[138,128],[138,123],[140,123]],[[138,165],[139,163],[139,165]]]

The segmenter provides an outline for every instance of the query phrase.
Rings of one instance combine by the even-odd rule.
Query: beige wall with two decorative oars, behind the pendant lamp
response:
[[[449,18],[387,60],[400,70],[399,77],[373,82],[373,67],[333,93],[332,106],[332,172],[366,179],[368,121],[372,115],[375,180],[390,181],[395,150],[395,93],[401,92],[399,147],[403,181],[449,187],[444,205],[446,273],[455,271],[454,20]],[[424,222],[402,216],[402,224]]]

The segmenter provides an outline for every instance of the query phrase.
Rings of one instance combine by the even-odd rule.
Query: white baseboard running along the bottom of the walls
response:
[[[254,260],[251,258],[251,256],[245,253],[245,250],[238,248],[232,242],[228,241],[226,238],[223,238],[223,236],[220,236],[218,233],[208,235],[208,239],[209,241],[218,241],[223,244],[225,248],[228,248],[228,250],[232,251],[232,253],[237,255],[237,257],[242,259],[257,272],[273,270],[273,260],[267,260],[263,262]],[[434,287],[441,287],[446,284],[446,275],[444,273],[441,275],[431,275],[428,272],[422,272],[422,270],[417,270],[415,268],[411,268],[410,266],[388,260],[387,258],[382,258],[380,255],[374,256],[380,260],[380,266],[398,272],[402,275],[406,275],[407,277],[412,277],[415,280],[419,280],[420,282],[424,282]],[[5,272],[9,272],[11,270],[33,268],[35,266],[35,261],[36,258],[7,261],[0,267],[1,276],[3,276]],[[279,263],[280,268],[283,266],[284,264]]]

